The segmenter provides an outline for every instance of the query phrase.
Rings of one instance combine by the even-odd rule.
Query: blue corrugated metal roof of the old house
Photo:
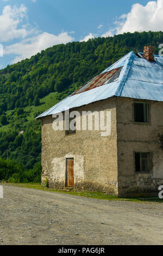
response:
[[[114,82],[79,94],[71,94],[37,118],[112,96],[163,101],[163,57],[155,55],[155,62],[148,62],[141,54],[138,57],[134,52],[130,52],[101,74],[120,67],[120,76]]]

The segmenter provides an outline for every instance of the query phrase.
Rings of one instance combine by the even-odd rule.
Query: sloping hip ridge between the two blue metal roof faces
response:
[[[127,60],[127,62],[124,64],[123,66],[123,69],[122,69],[122,73],[123,73],[123,76],[122,76],[122,79],[120,81],[120,84],[118,85],[118,88],[116,90],[116,93],[115,93],[115,96],[120,96],[121,95],[121,92],[122,92],[122,89],[123,89],[123,86],[124,86],[124,83],[126,82],[126,79],[127,79],[127,76],[128,76],[128,72],[131,68],[131,63],[133,62],[133,58],[135,56],[135,53],[133,51],[130,52],[130,56]]]

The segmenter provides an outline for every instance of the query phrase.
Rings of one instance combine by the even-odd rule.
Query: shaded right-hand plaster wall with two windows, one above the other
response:
[[[136,100],[136,102],[139,100]],[[141,102],[144,102],[141,100]],[[134,123],[134,100],[117,98],[118,193],[158,192],[163,185],[163,102],[149,103],[149,124]],[[135,172],[134,151],[151,152],[149,173]]]

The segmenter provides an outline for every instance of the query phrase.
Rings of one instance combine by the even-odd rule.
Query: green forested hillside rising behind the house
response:
[[[34,118],[99,74],[129,51],[163,43],[163,32],[135,32],[56,45],[0,71],[0,180],[17,165],[21,181],[39,181],[41,123]],[[20,132],[22,134],[20,134]],[[10,160],[7,159],[7,149]],[[3,166],[3,168],[2,168]],[[3,172],[2,172],[3,170]],[[4,175],[5,173],[5,175]],[[22,173],[25,173],[22,175]],[[30,174],[30,175],[29,175]],[[17,178],[18,177],[18,178]],[[13,179],[20,179],[15,175]]]

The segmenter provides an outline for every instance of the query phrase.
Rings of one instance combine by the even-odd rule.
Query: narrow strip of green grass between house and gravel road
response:
[[[151,202],[151,203],[163,203],[163,199],[153,198],[153,197],[140,197],[140,198],[118,198],[117,196],[107,195],[102,192],[88,192],[88,191],[72,191],[72,190],[54,190],[53,188],[46,188],[41,186],[40,183],[26,183],[26,184],[17,184],[17,183],[8,183],[11,186],[17,187],[26,187],[26,188],[33,188],[35,190],[43,190],[48,192],[55,192],[55,193],[65,193],[65,194],[72,194],[73,196],[79,197],[89,197],[89,198],[96,198],[96,199],[103,199],[103,200],[116,200],[116,201],[130,201],[130,202]]]

